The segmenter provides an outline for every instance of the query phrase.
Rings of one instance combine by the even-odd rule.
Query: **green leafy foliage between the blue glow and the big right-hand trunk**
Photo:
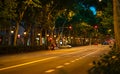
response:
[[[103,35],[113,35],[113,9],[112,1],[107,2],[107,6],[101,11],[101,16],[97,16],[99,19],[99,32]],[[111,30],[111,31],[110,31]],[[110,31],[110,32],[109,32]]]

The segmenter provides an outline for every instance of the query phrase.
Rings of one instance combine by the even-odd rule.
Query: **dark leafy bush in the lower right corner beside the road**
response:
[[[89,74],[120,74],[120,50],[113,48],[93,64]]]

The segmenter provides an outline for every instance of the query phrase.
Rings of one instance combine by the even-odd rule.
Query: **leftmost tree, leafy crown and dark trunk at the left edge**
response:
[[[6,42],[6,44],[10,44],[11,26],[13,26],[14,20],[17,17],[16,8],[16,0],[0,1],[0,29],[4,31],[4,34],[6,34],[3,37],[3,41],[6,41],[6,39],[8,39],[8,42]]]

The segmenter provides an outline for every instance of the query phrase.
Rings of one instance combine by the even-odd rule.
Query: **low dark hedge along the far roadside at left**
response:
[[[0,55],[46,50],[45,46],[0,46]]]

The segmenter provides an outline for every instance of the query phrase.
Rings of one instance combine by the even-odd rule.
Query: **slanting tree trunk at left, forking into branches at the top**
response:
[[[39,0],[27,0],[27,1],[18,1],[21,7],[18,6],[18,18],[16,20],[16,29],[15,29],[15,36],[14,36],[14,46],[16,46],[16,41],[17,41],[17,35],[18,35],[18,29],[19,29],[19,24],[23,19],[24,13],[26,9],[28,8],[29,5],[35,6],[35,7],[41,7],[39,4]],[[38,4],[37,4],[38,3]]]

